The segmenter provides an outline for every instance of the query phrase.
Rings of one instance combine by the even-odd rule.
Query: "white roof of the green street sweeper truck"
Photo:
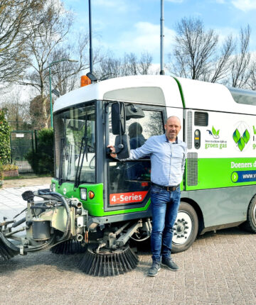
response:
[[[176,80],[181,86],[181,93]],[[53,111],[93,100],[118,100],[205,111],[256,114],[256,105],[238,104],[222,84],[165,75],[117,77],[68,92],[57,99]]]

